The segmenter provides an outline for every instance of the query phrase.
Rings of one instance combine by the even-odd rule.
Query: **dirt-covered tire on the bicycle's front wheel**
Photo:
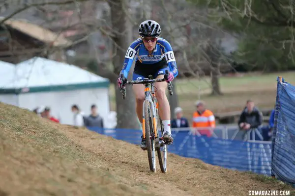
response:
[[[145,102],[145,130],[146,130],[146,145],[147,145],[147,151],[148,151],[148,164],[149,169],[151,172],[156,171],[156,167],[153,165],[152,160],[152,137],[151,137],[151,114],[150,110],[148,109],[150,106],[150,103],[148,101]]]

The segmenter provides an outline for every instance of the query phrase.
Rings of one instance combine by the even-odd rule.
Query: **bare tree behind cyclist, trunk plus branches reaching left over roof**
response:
[[[119,75],[119,72],[122,68],[123,60],[125,57],[126,49],[132,42],[132,24],[128,22],[126,10],[128,10],[128,2],[127,0],[112,0],[109,1],[109,5],[111,7],[111,24],[106,24],[105,21],[100,21],[99,19],[95,19],[93,16],[84,16],[84,13],[81,13],[81,4],[80,2],[87,2],[92,1],[93,7],[95,7],[95,2],[100,2],[100,0],[94,1],[94,0],[64,0],[64,1],[42,1],[39,3],[31,3],[31,4],[25,4],[21,5],[15,10],[12,10],[11,13],[9,13],[5,18],[3,18],[0,21],[0,24],[3,24],[5,21],[7,21],[10,18],[13,18],[17,14],[21,12],[25,12],[29,8],[37,7],[38,9],[47,10],[43,8],[49,8],[49,6],[53,5],[67,5],[69,8],[72,9],[74,13],[77,13],[76,20],[71,20],[71,25],[68,26],[62,26],[60,28],[57,28],[57,31],[59,33],[62,33],[63,31],[74,27],[79,27],[80,29],[83,29],[83,37],[73,40],[73,45],[79,44],[83,41],[90,41],[92,42],[95,39],[92,39],[91,34],[99,31],[103,34],[106,34],[108,39],[111,39],[113,42],[113,56],[110,57],[110,59],[106,61],[101,61],[95,55],[96,61],[97,61],[97,70],[95,73],[97,73],[100,76],[106,77],[110,79],[110,81],[115,85],[116,89],[116,107],[117,107],[117,127],[119,128],[140,128],[140,124],[138,123],[138,118],[135,112],[135,100],[133,93],[131,91],[131,87],[127,87],[127,98],[125,100],[122,99],[121,93],[118,90],[117,85],[117,77]],[[71,5],[71,6],[69,6]],[[83,7],[83,6],[82,6]],[[53,12],[55,12],[55,8],[52,8]],[[65,8],[66,9],[66,8]],[[87,10],[91,11],[91,10]],[[56,14],[56,13],[55,13]],[[95,13],[94,13],[95,14]],[[92,20],[90,19],[91,17]],[[46,18],[46,17],[45,17]],[[52,19],[51,19],[52,20]],[[99,23],[99,22],[101,23]],[[57,21],[58,23],[59,21]],[[103,24],[104,23],[104,24]],[[102,25],[103,24],[103,25]],[[46,25],[48,26],[48,25]],[[109,29],[105,28],[109,27]],[[75,29],[76,30],[76,29]],[[96,38],[98,39],[98,38]],[[91,46],[90,50],[94,51],[94,54],[98,54],[99,51],[96,51],[96,48],[94,46]],[[54,52],[54,48],[47,49],[48,53]],[[89,56],[90,58],[90,56]],[[112,65],[110,66],[109,61],[112,61]]]

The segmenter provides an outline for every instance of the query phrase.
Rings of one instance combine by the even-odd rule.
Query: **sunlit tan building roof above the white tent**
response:
[[[4,17],[0,17],[0,21],[3,19]],[[4,24],[46,44],[53,45],[54,47],[66,47],[72,44],[70,40],[63,38],[61,35],[58,35],[51,30],[43,28],[39,25],[29,23],[26,20],[8,19],[4,22]]]

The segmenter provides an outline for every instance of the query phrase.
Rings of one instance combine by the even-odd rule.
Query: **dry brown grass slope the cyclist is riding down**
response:
[[[146,153],[0,103],[0,196],[246,196],[249,190],[295,195],[276,180],[174,154],[168,173],[151,173]]]

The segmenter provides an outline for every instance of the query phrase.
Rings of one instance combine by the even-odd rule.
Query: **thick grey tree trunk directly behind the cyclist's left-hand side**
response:
[[[132,33],[129,33],[127,26],[127,16],[123,8],[127,9],[126,0],[112,0],[110,1],[111,7],[111,20],[112,28],[115,32],[114,53],[117,55],[113,58],[114,72],[119,74],[126,51],[132,42]],[[130,23],[129,23],[130,24]],[[118,45],[118,47],[116,46]],[[131,86],[126,86],[126,99],[122,99],[122,94],[116,85],[116,107],[117,107],[117,128],[131,128],[139,129],[140,124],[135,112],[135,99],[131,90]]]

